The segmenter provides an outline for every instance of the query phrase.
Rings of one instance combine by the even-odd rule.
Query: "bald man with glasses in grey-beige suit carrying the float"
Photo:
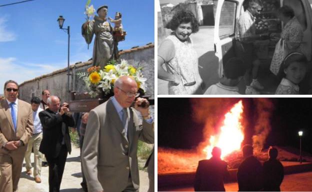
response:
[[[153,119],[146,99],[137,98],[129,76],[114,83],[114,96],[90,111],[82,147],[82,167],[88,192],[138,192],[137,143],[154,143]],[[143,117],[139,122],[137,113]]]

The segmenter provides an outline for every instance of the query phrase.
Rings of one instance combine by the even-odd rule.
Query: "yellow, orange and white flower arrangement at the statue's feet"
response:
[[[130,76],[137,83],[138,92],[143,95],[146,90],[145,81],[141,72],[142,67],[135,68],[129,65],[126,60],[121,59],[120,63],[115,60],[110,60],[107,65],[101,69],[98,66],[93,66],[87,69],[86,72],[79,72],[77,76],[81,78],[86,88],[88,89],[89,95],[94,98],[99,93],[103,93],[105,96],[113,95],[114,82],[120,76]]]

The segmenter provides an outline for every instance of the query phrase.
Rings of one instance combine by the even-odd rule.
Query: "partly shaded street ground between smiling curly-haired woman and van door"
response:
[[[205,83],[205,89],[219,81],[217,76],[218,59],[214,55],[213,27],[200,26],[197,33],[191,34],[198,55],[199,74]],[[167,82],[158,80],[158,94],[168,94]]]

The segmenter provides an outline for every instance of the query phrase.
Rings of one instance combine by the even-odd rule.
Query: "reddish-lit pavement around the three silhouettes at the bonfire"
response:
[[[237,183],[224,185],[226,192],[237,192]],[[170,190],[170,192],[193,192],[192,186]],[[286,175],[280,186],[282,192],[310,192],[312,191],[312,172]]]

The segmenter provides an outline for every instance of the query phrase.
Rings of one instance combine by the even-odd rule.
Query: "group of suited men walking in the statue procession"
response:
[[[114,83],[114,96],[82,117],[78,113],[85,192],[138,192],[137,144],[138,140],[154,143],[154,124],[148,107],[141,106],[148,101],[137,98],[137,89],[131,77],[122,76]],[[17,98],[18,84],[12,80],[5,82],[4,96],[0,100],[0,192],[18,191],[24,158],[26,174],[32,174],[32,149],[34,181],[41,182],[41,162],[46,159],[49,192],[59,192],[71,152],[68,127],[75,127],[68,104],[61,104],[48,90],[42,91],[41,100],[33,97],[29,104]],[[148,192],[154,191],[153,159],[152,152],[145,165]]]

